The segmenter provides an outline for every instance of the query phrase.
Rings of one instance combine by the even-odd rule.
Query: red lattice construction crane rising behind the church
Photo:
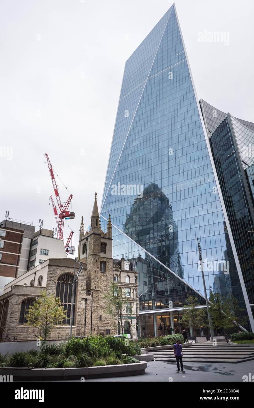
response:
[[[49,198],[50,198],[51,203],[52,203],[52,207],[53,207],[53,211],[54,211],[54,215],[55,215],[55,220],[56,220],[56,223],[57,223],[57,239],[62,239],[62,241],[63,241],[64,240],[64,220],[73,220],[75,218],[75,213],[68,211],[68,208],[69,208],[69,206],[71,204],[71,200],[72,200],[72,194],[69,196],[68,200],[63,205],[62,202],[61,202],[60,194],[58,192],[57,184],[56,184],[56,181],[55,181],[55,175],[54,175],[54,172],[53,172],[53,168],[51,166],[51,162],[49,160],[49,156],[48,156],[47,153],[45,153],[44,156],[47,159],[47,163],[48,163],[48,167],[49,167],[49,173],[50,173],[50,176],[51,176],[51,180],[52,180],[52,184],[53,184],[53,188],[54,188],[54,192],[55,192],[55,197],[56,197],[57,205],[58,205],[58,208],[59,208],[59,215],[58,215],[57,208],[56,208],[56,205],[54,203],[54,200],[53,200],[52,196],[50,196]],[[68,251],[68,248],[69,248],[68,245],[69,245],[69,243],[71,241],[72,236],[73,236],[73,231],[71,231],[71,233],[70,233],[70,235],[68,237],[68,240],[67,240],[67,243],[66,243],[66,246],[65,246],[66,252],[69,252]]]

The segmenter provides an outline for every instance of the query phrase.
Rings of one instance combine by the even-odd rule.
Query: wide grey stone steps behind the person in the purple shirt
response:
[[[156,361],[176,361],[173,350],[150,351]],[[254,360],[254,347],[237,347],[228,343],[217,343],[212,346],[207,343],[193,344],[183,348],[183,361],[190,363],[242,363],[243,361]]]

